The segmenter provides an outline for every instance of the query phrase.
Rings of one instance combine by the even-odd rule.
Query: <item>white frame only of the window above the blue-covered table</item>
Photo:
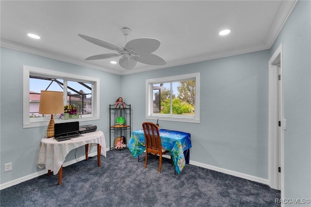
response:
[[[156,114],[153,113],[153,84],[168,83],[168,82],[180,82],[188,81],[190,79],[195,80],[195,108],[194,116],[188,115],[172,115],[172,114]],[[161,121],[179,121],[200,123],[200,73],[191,73],[185,75],[177,75],[163,78],[154,78],[146,80],[146,119],[149,120],[161,120]]]

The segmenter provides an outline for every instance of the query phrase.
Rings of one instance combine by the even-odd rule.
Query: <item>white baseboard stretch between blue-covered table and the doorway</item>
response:
[[[198,167],[202,167],[202,168],[206,168],[206,169],[209,169],[209,170],[217,171],[217,172],[220,172],[220,173],[230,174],[230,175],[233,175],[233,176],[236,176],[236,177],[241,177],[241,178],[244,178],[244,179],[247,179],[247,180],[251,180],[251,181],[255,181],[255,182],[258,182],[258,183],[262,183],[262,184],[265,184],[265,185],[269,185],[269,181],[267,179],[263,179],[263,178],[260,178],[260,177],[255,177],[253,175],[244,174],[244,173],[238,173],[238,172],[235,172],[235,171],[230,171],[230,170],[226,170],[224,168],[219,168],[219,167],[215,167],[215,166],[212,166],[212,165],[207,165],[207,164],[203,164],[203,163],[195,162],[195,161],[191,161],[191,160],[190,160],[189,164],[190,165],[195,165],[195,166],[198,166]]]

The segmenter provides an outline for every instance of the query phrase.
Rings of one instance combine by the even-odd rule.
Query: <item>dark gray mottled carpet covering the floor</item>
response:
[[[280,191],[235,176],[186,165],[174,175],[168,159],[138,162],[126,149],[81,161],[0,191],[1,207],[272,207]]]

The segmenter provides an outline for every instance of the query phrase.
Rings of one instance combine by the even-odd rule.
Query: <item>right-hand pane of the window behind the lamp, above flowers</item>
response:
[[[67,104],[78,108],[80,114],[92,113],[92,84],[68,81]]]

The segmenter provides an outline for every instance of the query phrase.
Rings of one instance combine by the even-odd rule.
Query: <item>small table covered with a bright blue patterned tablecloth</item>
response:
[[[191,135],[167,129],[159,129],[162,148],[170,151],[177,173],[180,173],[189,164],[191,148]],[[133,131],[128,143],[128,148],[134,157],[141,155],[146,147],[143,129]]]

